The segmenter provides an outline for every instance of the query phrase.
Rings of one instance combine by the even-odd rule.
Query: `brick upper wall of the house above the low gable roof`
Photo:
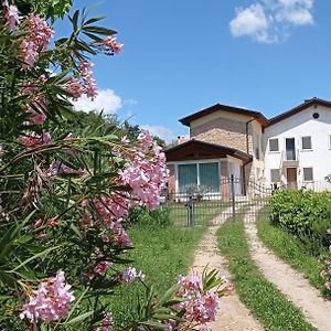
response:
[[[191,128],[191,138],[211,143],[223,145],[247,152],[246,122],[227,118],[216,118]],[[248,124],[248,149],[253,153],[252,124]]]

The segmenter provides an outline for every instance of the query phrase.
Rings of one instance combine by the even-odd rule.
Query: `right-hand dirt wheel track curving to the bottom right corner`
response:
[[[252,257],[266,278],[299,307],[306,319],[319,331],[330,331],[331,301],[323,299],[301,274],[281,261],[263,245],[257,236],[255,216],[246,214],[244,222]]]

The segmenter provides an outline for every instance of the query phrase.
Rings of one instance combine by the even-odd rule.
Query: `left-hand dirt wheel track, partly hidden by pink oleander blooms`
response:
[[[224,212],[226,214],[226,211]],[[228,213],[227,213],[228,214]],[[226,221],[226,216],[222,214],[214,218],[213,224],[216,226],[209,227],[209,231],[202,242],[200,243],[193,269],[202,274],[204,267],[216,268],[221,274],[229,276],[226,270],[226,263],[220,256],[217,248],[216,231]],[[239,301],[238,297],[234,293],[228,297],[220,299],[220,310],[216,321],[210,323],[209,327],[213,331],[263,331],[263,327],[250,316],[248,309]]]

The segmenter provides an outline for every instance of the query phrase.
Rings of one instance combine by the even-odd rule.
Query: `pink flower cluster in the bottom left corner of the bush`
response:
[[[71,285],[65,282],[64,273],[57,271],[55,277],[42,281],[38,290],[33,291],[30,301],[23,306],[20,318],[26,318],[32,323],[39,320],[58,321],[67,316],[74,300]]]

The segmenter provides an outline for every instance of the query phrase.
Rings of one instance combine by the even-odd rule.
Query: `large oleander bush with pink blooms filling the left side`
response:
[[[67,14],[71,6],[1,1],[0,330],[114,330],[109,302],[134,280],[148,295],[124,330],[205,330],[222,285],[216,271],[182,276],[159,296],[126,257],[129,210],[156,210],[166,185],[162,148],[148,131],[70,125],[73,102],[97,96],[90,58],[122,46],[103,18]],[[58,18],[72,33],[55,34]]]

